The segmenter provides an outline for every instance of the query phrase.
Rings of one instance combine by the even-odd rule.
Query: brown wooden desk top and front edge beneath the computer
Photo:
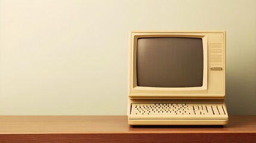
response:
[[[0,142],[256,142],[256,116],[222,126],[139,126],[127,116],[0,116]]]

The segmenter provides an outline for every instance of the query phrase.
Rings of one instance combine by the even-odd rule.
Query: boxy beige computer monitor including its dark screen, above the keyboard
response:
[[[224,100],[226,71],[225,31],[131,31],[129,38],[129,100]],[[178,46],[172,45],[173,42],[176,42]],[[184,45],[184,43],[186,44]],[[152,47],[145,48],[145,45],[147,47]],[[194,47],[190,47],[190,45],[194,45]],[[174,50],[172,51],[171,49],[171,51],[165,51],[168,49],[166,47],[171,47]],[[199,49],[196,49],[195,47],[199,47]],[[178,48],[178,52],[175,51],[175,48]],[[184,49],[183,51],[179,51],[179,48]],[[152,50],[147,51],[148,49]],[[145,50],[147,53],[151,54],[149,54],[150,56],[146,58],[143,57],[143,52],[145,52]],[[159,50],[162,51],[159,52]],[[169,57],[171,57],[169,58],[168,53],[172,52],[174,52],[174,54],[169,55]],[[191,52],[193,53],[191,54]],[[155,56],[155,54],[158,55]],[[161,60],[157,61],[156,63],[154,63],[155,60],[152,60],[152,58],[162,57],[161,55],[163,54],[165,54],[165,56],[161,60],[166,61],[163,63],[164,67],[161,64]],[[198,54],[199,56],[195,54]],[[199,58],[193,59],[193,57]],[[147,63],[147,61],[150,61],[151,63]],[[183,67],[180,68],[180,63],[188,64],[184,64]],[[193,64],[195,64],[195,66],[193,66]],[[171,70],[170,68],[172,67],[176,69],[176,71]],[[162,71],[166,71],[166,73],[161,75]],[[172,74],[172,76],[169,77],[169,74]],[[158,79],[161,79],[158,81],[158,84],[151,84],[153,81]],[[183,82],[175,85],[175,81],[180,81],[179,79],[182,79]],[[190,80],[187,81],[190,82],[188,85],[186,85],[186,80]],[[194,84],[193,81],[195,80],[198,80],[198,83]],[[171,82],[171,84],[168,85],[168,82]],[[161,83],[164,83],[164,85],[161,85]]]

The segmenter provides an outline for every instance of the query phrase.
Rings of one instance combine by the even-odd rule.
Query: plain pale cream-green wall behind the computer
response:
[[[254,0],[0,0],[0,115],[125,115],[129,30],[226,30],[229,114],[256,114]]]

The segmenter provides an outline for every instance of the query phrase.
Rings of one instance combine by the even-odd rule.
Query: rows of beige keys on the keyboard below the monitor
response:
[[[226,115],[224,104],[131,104],[131,115]]]

